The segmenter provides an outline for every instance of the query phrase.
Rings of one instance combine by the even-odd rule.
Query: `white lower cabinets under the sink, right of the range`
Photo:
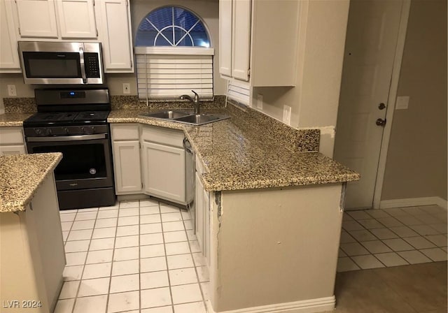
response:
[[[183,131],[117,123],[111,133],[116,194],[193,201],[193,155],[183,148]]]

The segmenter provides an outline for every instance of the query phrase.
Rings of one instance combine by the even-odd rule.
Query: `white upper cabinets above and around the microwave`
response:
[[[18,41],[101,42],[105,73],[133,73],[127,0],[0,0],[0,73],[19,73]]]

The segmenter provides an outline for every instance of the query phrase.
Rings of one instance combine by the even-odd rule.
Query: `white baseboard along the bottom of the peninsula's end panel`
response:
[[[246,307],[244,309],[221,311],[219,313],[315,313],[335,310],[335,296],[302,300],[288,303],[277,303],[274,305],[262,305],[260,307]],[[207,310],[216,313],[207,300]]]

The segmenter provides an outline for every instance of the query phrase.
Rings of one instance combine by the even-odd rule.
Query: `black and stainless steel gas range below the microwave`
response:
[[[23,123],[28,153],[62,152],[59,209],[113,205],[109,89],[36,89],[38,112]]]

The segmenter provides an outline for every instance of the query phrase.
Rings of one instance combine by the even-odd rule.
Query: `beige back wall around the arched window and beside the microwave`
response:
[[[212,48],[215,49],[214,56],[214,92],[215,94],[225,94],[227,83],[219,76],[219,2],[218,0],[131,0],[131,20],[132,34],[135,36],[141,19],[151,10],[159,6],[179,5],[197,13],[204,20],[209,33],[211,34]],[[106,84],[111,94],[123,94],[123,82],[129,82],[131,85],[131,94],[137,94],[137,76],[136,73],[106,74]],[[3,106],[3,97],[8,96],[6,85],[16,86],[19,97],[34,97],[34,86],[23,83],[22,74],[0,74],[0,111]]]

